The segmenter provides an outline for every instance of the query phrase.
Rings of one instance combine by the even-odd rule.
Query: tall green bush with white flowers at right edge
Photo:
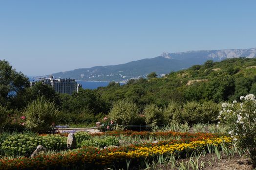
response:
[[[241,102],[223,103],[218,119],[229,126],[229,134],[238,147],[244,150],[256,167],[256,99],[248,94],[240,97]]]

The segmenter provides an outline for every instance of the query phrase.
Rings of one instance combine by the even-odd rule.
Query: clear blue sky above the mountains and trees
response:
[[[0,0],[0,59],[27,75],[256,47],[256,0]]]

